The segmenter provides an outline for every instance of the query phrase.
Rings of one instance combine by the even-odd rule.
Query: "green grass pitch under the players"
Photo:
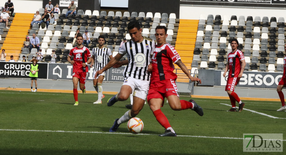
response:
[[[156,121],[148,104],[136,117],[144,122],[142,134],[129,134],[127,123],[116,134],[109,128],[128,109],[130,100],[106,105],[92,104],[97,94],[79,94],[74,106],[71,93],[0,91],[0,154],[285,154],[283,152],[243,152],[244,133],[282,133],[286,139],[286,119],[274,119],[243,110],[227,112],[229,100],[197,99],[204,110],[200,117],[192,110],[173,111],[168,104],[163,113],[177,137],[159,137],[164,128]],[[190,97],[180,97],[189,100]],[[238,104],[237,104],[238,106]],[[280,102],[245,101],[245,108],[279,118]],[[205,136],[205,137],[196,137]],[[222,137],[229,137],[225,139]],[[285,144],[285,143],[284,143]]]

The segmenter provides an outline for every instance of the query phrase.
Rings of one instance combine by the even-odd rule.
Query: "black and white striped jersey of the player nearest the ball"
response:
[[[144,37],[144,36],[143,36]],[[151,63],[151,55],[155,49],[155,42],[150,38],[143,38],[142,42],[129,41],[124,43],[119,54],[127,53],[128,65],[123,73],[124,78],[133,77],[135,79],[150,81],[150,72],[147,71]]]

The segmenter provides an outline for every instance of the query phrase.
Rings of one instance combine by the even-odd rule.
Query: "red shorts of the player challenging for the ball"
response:
[[[170,95],[177,95],[179,97],[177,91],[177,85],[174,80],[157,81],[150,84],[147,101],[158,98],[164,101],[164,98]]]

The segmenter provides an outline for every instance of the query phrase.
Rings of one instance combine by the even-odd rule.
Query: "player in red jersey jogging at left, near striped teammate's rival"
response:
[[[82,93],[86,93],[86,87],[84,85],[88,72],[87,64],[92,61],[89,49],[83,46],[82,42],[83,37],[78,34],[76,37],[76,43],[78,45],[70,50],[69,56],[67,57],[67,61],[73,65],[72,82],[74,83],[74,100],[76,101],[74,105],[78,105],[78,82],[80,82],[80,90],[82,90]],[[74,56],[74,60],[71,60],[72,56]]]

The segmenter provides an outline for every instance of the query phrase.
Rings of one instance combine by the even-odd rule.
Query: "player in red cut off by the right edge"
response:
[[[286,44],[284,45],[284,50],[286,52]],[[283,87],[285,87],[286,85],[286,64],[285,64],[285,61],[286,61],[286,56],[284,57],[284,71],[283,71],[283,76],[281,77],[280,81],[279,81],[279,84],[277,86],[277,93],[279,95],[279,98],[280,98],[280,101],[282,103],[282,106],[280,109],[278,109],[277,111],[282,111],[282,110],[285,110],[286,109],[286,105],[285,105],[285,100],[284,100],[284,94],[282,92],[282,89]]]

